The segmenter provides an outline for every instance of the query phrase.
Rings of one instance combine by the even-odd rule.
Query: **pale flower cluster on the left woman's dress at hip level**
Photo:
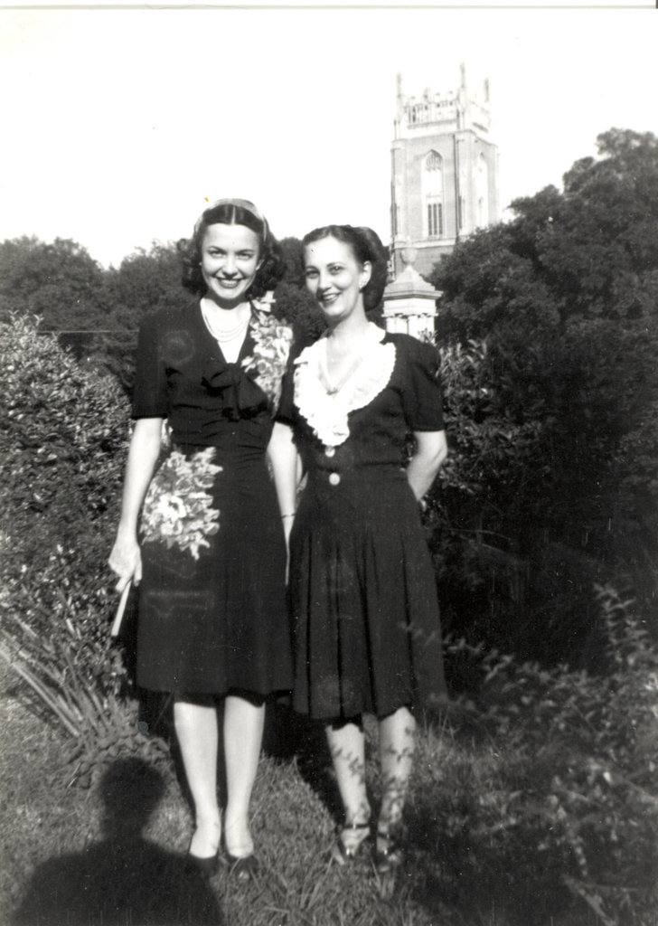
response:
[[[199,558],[206,537],[219,530],[219,510],[213,507],[211,489],[222,467],[212,462],[215,447],[186,457],[172,450],[149,486],[142,512],[143,543],[179,546]]]

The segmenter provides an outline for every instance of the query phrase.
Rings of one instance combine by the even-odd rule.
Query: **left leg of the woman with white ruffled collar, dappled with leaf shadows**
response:
[[[359,720],[330,724],[326,728],[329,751],[336,772],[338,790],[345,810],[341,831],[343,856],[352,856],[364,841],[370,819],[366,794],[366,745]]]

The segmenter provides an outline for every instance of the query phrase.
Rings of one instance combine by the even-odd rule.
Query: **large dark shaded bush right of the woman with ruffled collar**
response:
[[[650,348],[606,320],[441,348],[451,455],[426,523],[448,629],[590,668],[604,644],[594,583],[630,590],[652,619]]]

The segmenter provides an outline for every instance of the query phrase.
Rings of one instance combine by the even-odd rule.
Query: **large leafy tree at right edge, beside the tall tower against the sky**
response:
[[[504,306],[509,317],[514,307],[503,287],[510,270],[540,285],[538,314],[548,296],[563,322],[658,310],[658,139],[612,129],[597,144],[600,158],[578,160],[563,193],[547,187],[516,199],[514,221],[478,232],[435,267],[431,282],[444,291],[459,338],[497,326],[502,315],[492,308]]]

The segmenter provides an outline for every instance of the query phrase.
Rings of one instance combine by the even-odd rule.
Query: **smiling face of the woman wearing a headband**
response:
[[[260,266],[260,242],[246,225],[208,225],[201,245],[201,273],[212,299],[222,308],[244,300]]]

